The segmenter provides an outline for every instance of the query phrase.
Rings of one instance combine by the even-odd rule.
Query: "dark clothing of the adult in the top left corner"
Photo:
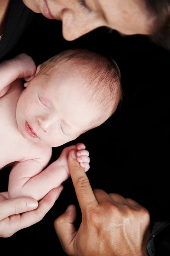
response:
[[[6,29],[0,41],[0,61],[14,48],[33,17],[34,12],[28,9],[22,0],[11,2]]]

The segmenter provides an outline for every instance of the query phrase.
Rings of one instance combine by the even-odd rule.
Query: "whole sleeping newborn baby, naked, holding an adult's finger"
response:
[[[89,153],[79,143],[65,148],[49,165],[58,147],[105,122],[121,99],[115,62],[88,50],[66,50],[37,67],[23,87],[23,73],[35,69],[26,54],[0,64],[0,169],[8,164],[8,196],[40,200],[69,177],[68,152],[89,169]]]

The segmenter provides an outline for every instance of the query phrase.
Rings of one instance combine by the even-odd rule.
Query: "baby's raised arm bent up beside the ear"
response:
[[[35,75],[36,66],[33,59],[25,53],[0,63],[0,97],[5,95],[11,83],[18,78],[30,81]]]

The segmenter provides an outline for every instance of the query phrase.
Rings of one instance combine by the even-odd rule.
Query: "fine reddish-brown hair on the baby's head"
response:
[[[69,49],[45,61],[37,75],[50,76],[56,71],[57,64],[67,61],[71,61],[71,67],[83,68],[87,89],[92,92],[93,99],[97,99],[102,111],[108,112],[108,119],[122,99],[121,74],[116,62],[111,57],[87,49]]]

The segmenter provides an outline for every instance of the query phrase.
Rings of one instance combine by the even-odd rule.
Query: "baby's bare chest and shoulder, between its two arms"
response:
[[[16,106],[23,91],[23,81],[17,79],[6,95],[0,98],[0,169],[11,162],[23,162],[39,158],[43,151],[51,154],[51,148],[26,140],[18,131]],[[46,154],[45,153],[45,154]]]

